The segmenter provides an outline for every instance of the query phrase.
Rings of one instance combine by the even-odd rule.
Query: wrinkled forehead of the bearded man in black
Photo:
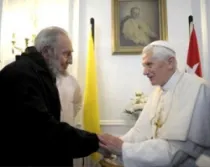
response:
[[[68,36],[60,35],[58,37],[57,49],[62,52],[73,52],[72,43]]]

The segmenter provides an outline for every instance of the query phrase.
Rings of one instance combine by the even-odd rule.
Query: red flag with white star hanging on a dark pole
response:
[[[202,77],[201,61],[198,48],[196,32],[193,23],[191,23],[190,41],[187,55],[188,73],[195,73]]]

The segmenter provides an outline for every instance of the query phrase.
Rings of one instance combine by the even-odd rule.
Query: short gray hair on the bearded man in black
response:
[[[35,38],[34,45],[37,51],[41,52],[46,46],[55,47],[58,37],[61,35],[68,36],[67,32],[56,26],[47,27],[41,30]]]

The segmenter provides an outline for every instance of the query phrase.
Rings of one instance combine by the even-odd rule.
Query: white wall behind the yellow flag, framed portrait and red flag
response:
[[[196,5],[198,5],[196,7]],[[96,56],[101,122],[105,131],[122,134],[129,126],[122,112],[135,91],[150,92],[151,86],[142,75],[141,56],[111,54],[111,0],[80,1],[78,80],[84,88],[89,20],[95,19]],[[193,9],[193,10],[192,10]],[[193,13],[192,13],[193,11]],[[177,51],[181,70],[185,67],[188,42],[188,16],[193,14],[199,47],[201,46],[201,10],[198,0],[167,0],[168,40]],[[126,118],[127,119],[127,118]]]

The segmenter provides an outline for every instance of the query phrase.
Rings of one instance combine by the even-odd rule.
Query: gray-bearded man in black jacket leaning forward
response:
[[[71,53],[62,28],[45,28],[35,47],[0,71],[1,165],[72,166],[99,149],[98,135],[60,122],[56,76]]]

